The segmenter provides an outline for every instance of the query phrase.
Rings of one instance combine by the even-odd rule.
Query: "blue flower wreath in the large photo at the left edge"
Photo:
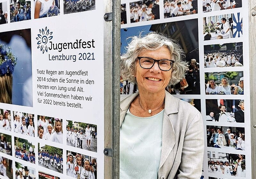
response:
[[[0,44],[0,76],[10,76],[14,72],[17,57],[11,52],[11,48]]]

